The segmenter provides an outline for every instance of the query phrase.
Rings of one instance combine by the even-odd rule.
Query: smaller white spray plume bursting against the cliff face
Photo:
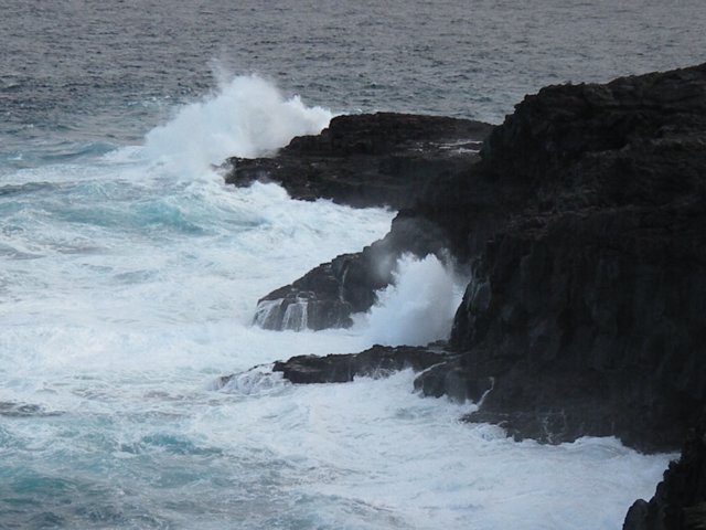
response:
[[[366,337],[382,344],[426,344],[447,339],[461,301],[462,282],[436,256],[404,255],[395,282],[378,293],[371,309]]]

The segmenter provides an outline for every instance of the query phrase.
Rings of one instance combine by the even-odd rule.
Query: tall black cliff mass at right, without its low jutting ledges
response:
[[[470,420],[677,447],[706,396],[706,65],[544,88],[482,158],[402,212],[473,264],[450,344],[494,386]]]

